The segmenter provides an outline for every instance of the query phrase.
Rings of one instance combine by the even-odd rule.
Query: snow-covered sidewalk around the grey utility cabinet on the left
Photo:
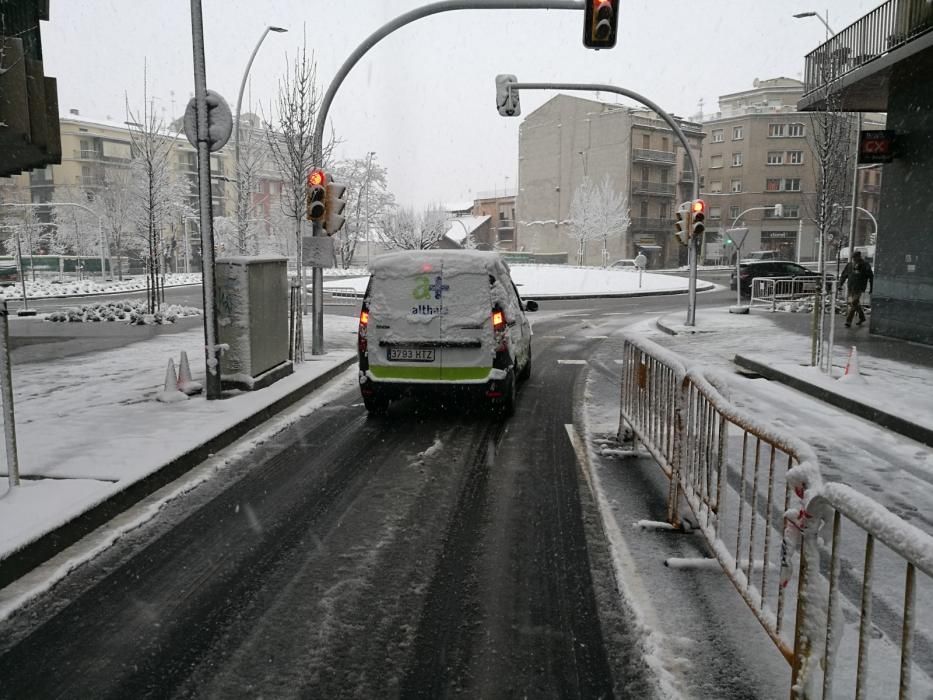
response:
[[[306,320],[310,345],[310,319]],[[181,351],[203,382],[200,328],[103,352],[15,366],[21,486],[0,467],[0,559],[70,521],[279,399],[355,358],[357,321],[326,316],[326,355],[256,392],[222,401],[159,403]]]

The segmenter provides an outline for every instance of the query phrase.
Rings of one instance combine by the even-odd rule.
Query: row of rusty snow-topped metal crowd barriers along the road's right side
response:
[[[913,580],[918,569],[928,576],[933,571],[933,537],[848,487],[824,485],[812,448],[732,405],[726,382],[717,374],[687,370],[677,355],[644,338],[627,334],[624,340],[620,438],[643,443],[670,479],[668,522],[681,527],[680,504],[689,507],[710,551],[791,665],[792,697],[816,697],[821,680],[825,688],[832,685],[832,640],[838,636],[830,630],[838,623],[833,611],[839,604],[841,517],[867,533],[866,562],[872,556],[871,542],[878,539],[907,567],[908,602],[900,619],[902,647],[911,648],[916,636],[907,631],[915,613]],[[866,511],[872,516],[864,517]],[[833,522],[828,562],[821,549],[826,522]],[[854,541],[844,540],[846,553]],[[835,572],[829,581],[827,567]],[[872,629],[870,565],[867,572],[859,633],[861,694],[856,697],[864,697],[867,687],[861,676],[863,667],[867,669],[865,635]],[[852,589],[850,572],[846,580]],[[887,587],[884,595],[889,611],[894,602]],[[933,609],[933,590],[929,597]],[[828,607],[822,604],[827,599]],[[923,648],[933,649],[933,644]],[[905,697],[910,669],[917,663],[907,651],[902,658]],[[921,665],[933,678],[933,669],[926,666],[933,666],[933,653]]]

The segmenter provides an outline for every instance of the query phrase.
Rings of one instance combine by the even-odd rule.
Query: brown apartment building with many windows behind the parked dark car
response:
[[[701,192],[709,207],[707,259],[731,257],[733,250],[718,243],[734,238],[725,234],[734,224],[748,229],[743,253],[774,250],[788,260],[818,258],[820,168],[814,129],[819,126],[812,114],[797,111],[802,94],[799,80],[756,80],[750,90],[722,95],[719,111],[703,120],[707,147]],[[877,115],[866,120],[868,128],[881,123]],[[854,141],[840,146],[851,153]],[[878,211],[880,178],[877,169],[859,172],[861,197],[856,206],[873,215]],[[833,216],[828,227],[832,239],[825,242],[825,257],[848,235],[851,177],[834,195],[837,201],[830,203]],[[777,204],[783,209],[780,216],[774,208]],[[856,221],[858,243],[871,236],[873,224],[863,216]]]

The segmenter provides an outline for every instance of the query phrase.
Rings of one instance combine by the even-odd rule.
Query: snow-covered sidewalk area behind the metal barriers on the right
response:
[[[859,378],[842,381],[838,377],[844,372],[846,352],[837,348],[833,376],[822,374],[808,366],[810,339],[781,320],[779,314],[734,315],[723,307],[700,310],[693,328],[683,326],[682,314],[672,314],[659,319],[657,326],[646,324],[639,330],[690,365],[727,372],[732,402],[809,443],[825,479],[848,484],[933,534],[933,448],[775,381],[741,378],[733,363],[737,354],[754,357],[824,391],[933,427],[933,348],[911,346],[913,354],[926,352],[930,364],[862,351]],[[859,338],[864,338],[862,344],[869,345],[867,329],[861,333],[848,337],[847,344],[858,347]]]

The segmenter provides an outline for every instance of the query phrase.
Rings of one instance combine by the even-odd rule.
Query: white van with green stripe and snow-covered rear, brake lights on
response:
[[[497,253],[376,258],[360,311],[360,391],[370,413],[419,391],[473,393],[504,413],[531,373],[531,324]]]

